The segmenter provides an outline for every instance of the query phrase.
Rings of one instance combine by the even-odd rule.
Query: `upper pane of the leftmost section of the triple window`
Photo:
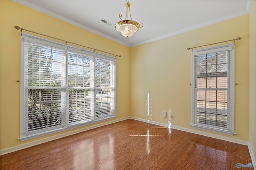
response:
[[[63,51],[26,43],[27,86],[61,86],[63,84]]]

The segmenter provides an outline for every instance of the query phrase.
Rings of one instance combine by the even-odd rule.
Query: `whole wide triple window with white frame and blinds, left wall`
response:
[[[20,140],[115,117],[116,58],[22,33]]]

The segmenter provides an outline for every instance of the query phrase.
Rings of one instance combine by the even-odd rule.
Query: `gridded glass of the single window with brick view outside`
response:
[[[228,128],[229,51],[195,57],[195,122],[207,127]]]

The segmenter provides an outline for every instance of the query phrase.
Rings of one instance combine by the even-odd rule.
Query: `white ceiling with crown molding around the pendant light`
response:
[[[252,3],[252,0],[130,0],[132,19],[142,22],[144,27],[127,39],[114,27],[120,21],[120,13],[125,18],[126,0],[13,1],[128,47],[248,14]],[[103,23],[102,19],[113,25]]]

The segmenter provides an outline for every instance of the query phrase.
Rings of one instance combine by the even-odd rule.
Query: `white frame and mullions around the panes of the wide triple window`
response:
[[[116,58],[115,57],[110,57],[107,55],[103,55],[100,53],[95,53],[92,51],[87,51],[84,49],[80,49],[77,47],[73,47],[70,45],[66,45],[66,44],[62,44],[62,43],[58,43],[55,41],[51,41],[48,39],[44,39],[41,37],[37,37],[34,35],[30,35],[30,34],[26,34],[26,33],[21,33],[21,45],[20,45],[20,137],[18,138],[20,141],[25,141],[28,139],[33,139],[36,137],[41,137],[41,136],[45,136],[45,135],[49,135],[49,134],[53,134],[53,133],[58,133],[61,131],[66,131],[69,129],[74,129],[77,127],[82,127],[85,125],[90,125],[90,124],[94,124],[94,123],[98,123],[101,121],[106,121],[106,120],[110,120],[110,119],[114,119],[116,117],[116,112],[115,112],[115,105],[116,105]],[[29,42],[28,42],[29,41]],[[53,128],[45,128],[45,129],[41,129],[39,131],[32,131],[32,133],[26,133],[26,126],[28,126],[28,85],[26,85],[26,77],[25,77],[25,73],[26,73],[26,67],[25,67],[25,60],[28,59],[28,55],[27,57],[25,56],[25,53],[27,53],[25,51],[25,43],[35,43],[38,45],[46,45],[48,47],[51,48],[58,48],[61,49],[64,53],[63,53],[63,60],[64,60],[64,68],[62,68],[62,72],[63,72],[63,77],[64,77],[64,85],[60,86],[59,89],[62,90],[62,95],[64,95],[64,98],[62,96],[62,100],[61,102],[64,102],[64,106],[62,106],[62,124],[58,125],[56,127]],[[95,85],[95,61],[97,59],[102,59],[102,60],[106,60],[106,61],[110,61],[111,64],[111,69],[112,69],[112,79],[109,80],[111,81],[111,89],[112,89],[112,93],[111,96],[109,98],[111,98],[111,102],[109,103],[109,106],[112,108],[110,110],[110,114],[108,114],[107,116],[101,117],[101,119],[95,119],[95,114],[96,114],[96,108],[93,106],[93,114],[92,114],[92,120],[90,121],[85,121],[82,123],[69,123],[69,93],[68,90],[71,88],[68,85],[68,58],[69,55],[68,53],[78,53],[78,54],[82,54],[82,55],[86,55],[88,57],[90,57],[90,60],[92,60],[92,64],[90,64],[90,69],[92,70],[91,76],[93,78],[93,83],[90,83],[91,87],[93,90],[93,95],[91,98],[91,102],[93,101],[93,105],[96,104],[96,85]],[[63,63],[62,63],[63,64]],[[47,86],[48,87],[48,86]],[[109,88],[109,87],[107,87]],[[108,106],[107,106],[108,107]]]

